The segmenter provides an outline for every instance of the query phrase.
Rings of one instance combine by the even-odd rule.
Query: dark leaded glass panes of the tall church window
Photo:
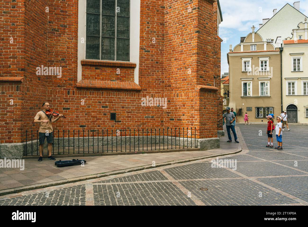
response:
[[[87,0],[86,29],[87,59],[129,61],[129,0]]]

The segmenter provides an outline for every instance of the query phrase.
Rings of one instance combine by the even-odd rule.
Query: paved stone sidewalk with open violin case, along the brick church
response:
[[[237,128],[237,130],[239,129]],[[0,168],[0,195],[234,154],[241,151],[239,143],[227,143],[227,140],[227,135],[221,137],[220,148],[208,151],[78,157],[78,159],[87,161],[83,167],[80,165],[56,167],[55,161],[52,160],[43,159],[42,162],[38,162],[37,159],[24,159],[24,170]],[[72,158],[58,158],[56,160],[60,159],[69,160]]]

